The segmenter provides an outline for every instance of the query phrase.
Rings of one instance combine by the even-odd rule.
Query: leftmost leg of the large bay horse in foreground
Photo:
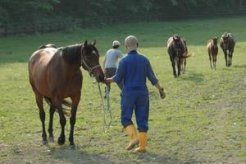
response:
[[[47,144],[47,135],[45,131],[45,112],[43,107],[43,97],[41,95],[36,94],[36,103],[39,108],[39,117],[42,122],[42,143]]]

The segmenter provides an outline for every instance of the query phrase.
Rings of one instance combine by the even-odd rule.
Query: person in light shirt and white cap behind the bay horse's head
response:
[[[120,42],[118,40],[114,40],[112,43],[112,48],[110,48],[106,54],[103,61],[103,71],[105,73],[105,77],[109,78],[115,75],[117,70],[118,61],[123,57],[123,53],[119,49]],[[117,83],[118,87],[122,89],[123,84]],[[108,85],[108,92],[110,91],[110,84]]]

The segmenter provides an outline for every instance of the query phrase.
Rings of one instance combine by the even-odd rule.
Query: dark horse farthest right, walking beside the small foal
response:
[[[231,33],[225,32],[220,38],[220,47],[224,52],[227,67],[232,65],[232,56],[235,44],[236,41]]]

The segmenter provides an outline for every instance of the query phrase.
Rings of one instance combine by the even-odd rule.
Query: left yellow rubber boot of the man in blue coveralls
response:
[[[138,144],[137,131],[134,125],[128,125],[125,129],[130,138],[130,142],[126,149],[131,150]]]

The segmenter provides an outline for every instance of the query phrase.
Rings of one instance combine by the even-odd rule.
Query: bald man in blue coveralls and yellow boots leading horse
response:
[[[151,64],[146,56],[137,51],[138,40],[135,36],[130,35],[125,39],[125,46],[128,54],[121,59],[116,74],[111,78],[106,78],[106,83],[123,81],[121,94],[121,124],[125,128],[130,142],[126,147],[127,150],[135,152],[145,152],[147,145],[147,131],[149,118],[149,93],[146,85],[148,79],[154,85],[162,99],[166,94],[164,89],[159,85]],[[132,115],[135,112],[138,134]]]

